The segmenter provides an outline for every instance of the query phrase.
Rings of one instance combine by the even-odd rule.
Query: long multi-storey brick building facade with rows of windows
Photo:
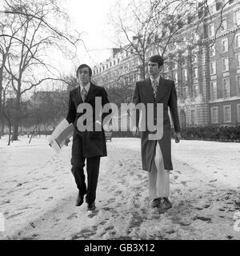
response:
[[[178,42],[167,46],[162,76],[175,81],[182,127],[239,126],[240,2],[212,1],[207,12],[201,22],[180,28]],[[150,47],[146,60],[157,52]],[[141,68],[131,46],[114,49],[111,58],[94,67],[94,80],[106,89],[134,86],[142,79]]]

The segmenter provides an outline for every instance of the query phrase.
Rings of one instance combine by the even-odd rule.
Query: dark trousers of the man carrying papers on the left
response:
[[[91,204],[95,201],[96,190],[98,185],[98,174],[100,166],[100,156],[95,156],[92,158],[82,157],[81,149],[81,139],[74,139],[72,147],[72,174],[74,175],[75,182],[77,184],[79,194],[86,194],[86,202]],[[80,146],[81,147],[81,146]],[[85,182],[84,166],[86,162],[86,173],[87,173],[87,186]]]

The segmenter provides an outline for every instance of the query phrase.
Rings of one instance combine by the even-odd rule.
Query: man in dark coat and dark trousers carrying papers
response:
[[[100,112],[96,113],[99,108],[95,110],[95,98],[99,97],[102,99],[102,106],[109,102],[106,90],[103,87],[95,86],[94,83],[90,82],[91,76],[92,70],[90,69],[90,66],[82,64],[78,67],[77,78],[80,85],[70,91],[69,110],[66,117],[67,122],[74,124],[71,171],[74,174],[74,179],[78,187],[76,206],[82,205],[84,195],[86,194],[88,210],[95,209],[100,158],[106,156],[106,138],[102,129],[102,119],[108,114],[105,113],[99,115]],[[93,110],[91,116],[86,115],[86,119],[92,118],[93,130],[83,130],[80,126],[79,120],[83,114],[86,114],[83,112],[81,113],[81,110],[79,110],[79,106],[83,106],[83,102],[90,104],[89,106],[91,106]],[[98,119],[96,122],[95,117]],[[82,127],[83,125],[86,125],[88,121],[89,120],[85,120],[82,123]],[[97,126],[98,130],[95,129]],[[87,186],[83,170],[85,161]]]

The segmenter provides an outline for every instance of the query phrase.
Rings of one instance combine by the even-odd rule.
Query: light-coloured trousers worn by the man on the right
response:
[[[155,155],[151,164],[150,172],[148,173],[149,180],[149,197],[168,198],[170,194],[170,171],[164,169],[162,150],[156,143]]]

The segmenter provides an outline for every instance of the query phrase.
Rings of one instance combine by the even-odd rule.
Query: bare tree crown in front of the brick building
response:
[[[141,61],[142,78],[146,77],[146,58],[150,50],[156,50],[165,59],[168,52],[192,44],[198,38],[199,30],[206,28],[206,18],[213,18],[208,0],[141,0],[130,1],[126,6],[118,0],[111,11],[111,23],[114,25],[116,45],[126,45],[124,50],[138,56]],[[222,12],[229,1],[218,5]],[[184,37],[184,30],[191,28],[191,36]],[[207,36],[205,31],[205,37]],[[174,56],[170,55],[171,61]],[[178,58],[174,61],[178,62]]]

